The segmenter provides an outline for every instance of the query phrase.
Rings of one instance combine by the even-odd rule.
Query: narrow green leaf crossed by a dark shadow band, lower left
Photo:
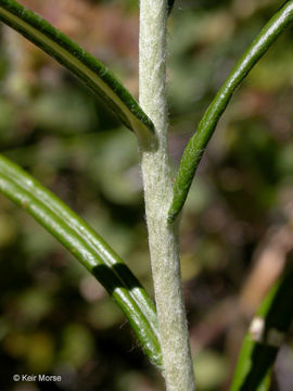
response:
[[[145,354],[161,366],[154,304],[119,256],[68,206],[2,155],[0,192],[35,217],[104,286],[125,313]]]

